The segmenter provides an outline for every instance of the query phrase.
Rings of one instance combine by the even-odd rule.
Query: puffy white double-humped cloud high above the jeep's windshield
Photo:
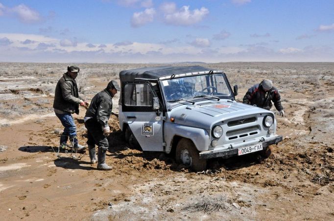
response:
[[[182,6],[178,11],[173,11],[173,5],[163,6],[165,10],[165,22],[173,25],[192,25],[202,21],[208,14],[209,10],[205,7],[201,9],[189,10],[189,6]]]

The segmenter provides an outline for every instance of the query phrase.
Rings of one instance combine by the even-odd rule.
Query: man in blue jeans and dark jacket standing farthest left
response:
[[[85,146],[78,144],[76,137],[76,126],[72,117],[73,113],[79,114],[79,105],[87,107],[88,103],[79,97],[78,88],[75,78],[79,73],[79,68],[70,65],[67,72],[58,80],[56,90],[54,92],[53,109],[56,116],[64,126],[64,132],[60,136],[60,149],[66,148],[68,138],[72,142],[73,147],[82,151]]]

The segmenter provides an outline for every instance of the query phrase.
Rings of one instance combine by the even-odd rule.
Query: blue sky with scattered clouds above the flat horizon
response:
[[[0,0],[0,62],[334,62],[333,0]]]

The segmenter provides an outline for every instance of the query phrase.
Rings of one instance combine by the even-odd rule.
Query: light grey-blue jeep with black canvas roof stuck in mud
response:
[[[195,171],[207,159],[244,155],[282,141],[271,111],[238,103],[223,71],[160,66],[119,73],[119,125],[130,146],[175,153]]]

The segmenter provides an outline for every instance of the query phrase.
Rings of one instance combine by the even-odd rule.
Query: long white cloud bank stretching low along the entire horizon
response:
[[[26,41],[27,40],[27,41]],[[24,42],[26,41],[26,44]],[[210,46],[210,40],[198,38],[191,45],[123,41],[95,44],[62,40],[43,35],[0,33],[0,60],[10,62],[177,62],[177,61],[332,61],[334,49],[329,45],[302,49],[273,50],[261,45]],[[171,40],[174,41],[174,40]],[[176,41],[176,40],[175,40]],[[71,45],[72,42],[72,45]]]

